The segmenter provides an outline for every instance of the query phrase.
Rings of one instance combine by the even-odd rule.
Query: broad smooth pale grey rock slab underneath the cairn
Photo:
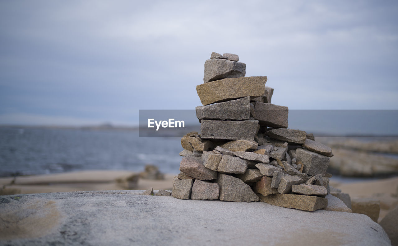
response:
[[[84,191],[2,196],[0,215],[36,223],[0,224],[9,245],[390,245],[369,217],[313,213],[267,203],[180,200],[143,191]],[[38,216],[51,203],[51,214]],[[32,205],[30,214],[25,211]],[[48,211],[48,209],[47,209]],[[24,216],[26,215],[26,216]],[[46,230],[37,223],[51,221]],[[195,223],[195,226],[192,226]],[[253,235],[253,225],[261,233]],[[289,233],[281,233],[286,228]],[[33,229],[33,230],[32,230]],[[30,232],[30,233],[27,233]],[[302,236],[302,235],[305,236]],[[28,238],[27,238],[28,236]]]

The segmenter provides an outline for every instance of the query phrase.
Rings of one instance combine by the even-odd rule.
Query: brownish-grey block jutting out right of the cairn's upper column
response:
[[[271,103],[256,102],[254,105],[256,119],[261,126],[287,128],[289,108]]]

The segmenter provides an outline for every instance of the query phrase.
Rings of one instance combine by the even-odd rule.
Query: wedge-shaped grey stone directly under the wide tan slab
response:
[[[205,120],[248,120],[250,118],[250,96],[196,107],[196,117]]]

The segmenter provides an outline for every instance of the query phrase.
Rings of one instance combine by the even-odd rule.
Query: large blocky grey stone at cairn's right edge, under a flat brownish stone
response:
[[[325,175],[330,157],[300,148],[296,150],[296,154],[297,161],[301,161],[304,164],[303,173]]]

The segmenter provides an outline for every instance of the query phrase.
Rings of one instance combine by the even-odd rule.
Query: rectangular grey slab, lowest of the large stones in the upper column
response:
[[[201,120],[201,136],[207,139],[254,140],[258,120]]]

